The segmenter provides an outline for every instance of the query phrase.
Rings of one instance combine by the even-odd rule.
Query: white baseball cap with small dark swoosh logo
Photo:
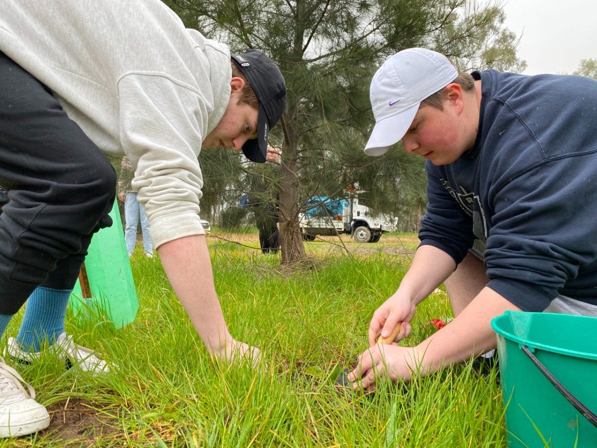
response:
[[[375,127],[365,146],[368,155],[382,155],[401,140],[421,101],[446,87],[458,70],[443,54],[408,48],[386,59],[371,79]]]

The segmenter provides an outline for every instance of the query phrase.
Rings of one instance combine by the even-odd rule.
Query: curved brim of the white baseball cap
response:
[[[404,134],[407,133],[408,127],[413,123],[414,116],[417,115],[419,105],[420,103],[417,103],[400,113],[396,113],[396,115],[390,115],[378,120],[373,127],[367,145],[365,145],[365,154],[386,154],[390,146],[401,140]]]

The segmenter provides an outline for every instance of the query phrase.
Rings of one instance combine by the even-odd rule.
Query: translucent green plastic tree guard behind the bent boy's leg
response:
[[[70,296],[70,305],[79,318],[107,317],[118,329],[135,320],[139,300],[116,201],[110,217],[112,226],[93,235],[85,257],[84,271],[91,297],[85,297],[89,294],[83,293],[78,280]]]

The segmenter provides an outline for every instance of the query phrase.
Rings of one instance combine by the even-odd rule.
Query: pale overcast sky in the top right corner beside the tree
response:
[[[572,73],[597,59],[597,0],[505,0],[504,25],[521,36],[525,75]]]

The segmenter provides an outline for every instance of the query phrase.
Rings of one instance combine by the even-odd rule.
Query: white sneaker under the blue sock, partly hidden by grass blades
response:
[[[98,358],[93,350],[76,345],[73,342],[73,337],[66,333],[61,333],[50,346],[50,349],[56,351],[58,357],[64,360],[67,370],[71,367],[77,367],[83,372],[91,372],[94,375],[110,371],[110,367],[108,367],[106,361]],[[24,364],[30,364],[31,361],[38,360],[41,355],[40,352],[27,352],[23,350],[14,337],[8,338],[7,352],[13,360]]]

